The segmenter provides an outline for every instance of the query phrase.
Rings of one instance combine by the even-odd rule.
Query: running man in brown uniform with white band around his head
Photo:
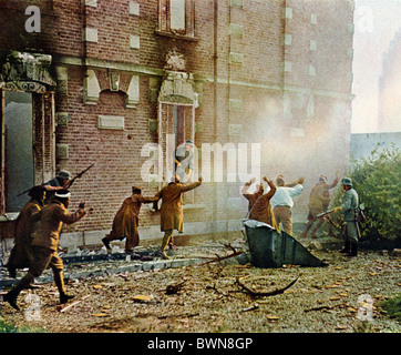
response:
[[[49,204],[40,211],[41,229],[33,234],[32,251],[33,261],[28,273],[20,282],[4,295],[3,300],[19,311],[17,297],[20,292],[28,287],[34,277],[39,277],[44,270],[51,267],[54,275],[54,283],[60,293],[60,303],[66,303],[74,296],[68,294],[64,288],[63,261],[58,255],[60,232],[63,223],[72,224],[85,215],[84,203],[80,204],[75,213],[70,214],[68,206],[70,203],[70,192],[59,190],[50,200]]]

